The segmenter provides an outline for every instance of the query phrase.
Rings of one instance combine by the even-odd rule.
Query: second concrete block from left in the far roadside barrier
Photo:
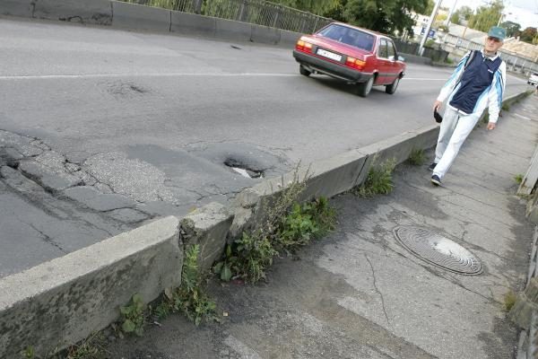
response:
[[[112,5],[109,0],[35,0],[32,16],[37,19],[109,25]]]

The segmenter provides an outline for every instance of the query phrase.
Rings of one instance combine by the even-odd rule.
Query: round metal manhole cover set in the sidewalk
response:
[[[473,253],[442,235],[419,227],[396,227],[395,237],[406,250],[430,264],[463,275],[482,273]]]

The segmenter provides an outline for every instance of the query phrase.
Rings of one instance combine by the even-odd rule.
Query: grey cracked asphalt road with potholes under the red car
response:
[[[350,85],[299,75],[291,48],[13,18],[0,18],[0,64],[0,147],[28,162],[0,176],[0,194],[20,204],[0,204],[0,262],[12,263],[0,276],[154,216],[227,201],[256,182],[228,160],[272,177],[429,125],[450,74],[409,65],[394,96],[381,88],[362,99]],[[508,95],[525,87],[508,78]],[[65,183],[91,188],[66,194]],[[21,224],[29,204],[39,228]],[[59,231],[65,219],[72,227]],[[81,226],[77,240],[58,239]],[[29,232],[53,254],[32,248]],[[33,253],[17,255],[13,243]]]

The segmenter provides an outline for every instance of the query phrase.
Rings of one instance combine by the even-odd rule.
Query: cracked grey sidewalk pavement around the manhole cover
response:
[[[514,357],[504,294],[523,289],[533,226],[516,197],[538,135],[538,98],[512,106],[487,133],[473,131],[443,180],[426,163],[395,170],[388,196],[332,200],[339,225],[297,258],[276,260],[265,285],[210,283],[221,324],[182,316],[108,346],[113,358]],[[430,151],[430,157],[433,156]],[[478,276],[415,257],[393,230],[445,235],[482,262]]]

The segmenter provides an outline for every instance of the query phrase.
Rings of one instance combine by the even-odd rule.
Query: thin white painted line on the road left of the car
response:
[[[256,73],[240,73],[240,74],[225,74],[225,73],[169,73],[169,74],[37,74],[37,75],[4,75],[0,76],[0,80],[40,80],[40,79],[79,79],[79,78],[99,78],[99,77],[166,77],[166,76],[205,76],[205,77],[286,77],[299,76],[299,74],[256,74]]]

